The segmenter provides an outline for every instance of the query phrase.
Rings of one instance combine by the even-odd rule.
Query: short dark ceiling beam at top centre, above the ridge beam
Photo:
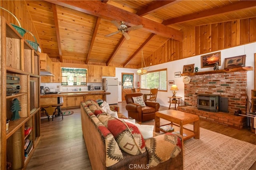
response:
[[[166,6],[169,6],[174,3],[176,3],[176,0],[158,0],[154,4],[151,4],[149,6],[146,6],[145,8],[142,8],[136,14],[138,16],[144,16],[152,12],[155,12],[156,10],[165,8]]]

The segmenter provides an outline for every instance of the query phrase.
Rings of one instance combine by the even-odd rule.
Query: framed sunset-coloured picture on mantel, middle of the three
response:
[[[201,68],[214,67],[216,62],[221,65],[220,51],[201,56]]]

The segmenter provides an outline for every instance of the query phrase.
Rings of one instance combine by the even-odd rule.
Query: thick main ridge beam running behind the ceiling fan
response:
[[[118,20],[125,21],[129,26],[143,25],[143,30],[167,37],[174,40],[182,41],[182,31],[164,26],[158,22],[154,22],[144,17],[140,17],[137,14],[127,12],[120,8],[104,4],[100,1],[70,1],[70,0],[46,0],[47,2],[58,4],[73,10],[84,12],[104,18],[106,20]]]

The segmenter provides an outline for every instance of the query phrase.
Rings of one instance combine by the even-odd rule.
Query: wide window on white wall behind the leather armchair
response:
[[[167,69],[148,72],[140,77],[141,89],[158,88],[167,91]]]

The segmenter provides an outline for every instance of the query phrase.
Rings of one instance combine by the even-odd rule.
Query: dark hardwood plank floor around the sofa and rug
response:
[[[118,103],[120,112],[128,116],[125,102]],[[166,110],[167,107],[160,107]],[[86,146],[82,136],[80,109],[71,109],[73,115],[41,121],[41,140],[27,170],[91,170]],[[65,111],[65,110],[64,110]],[[236,130],[200,119],[200,127],[256,144],[256,134],[249,129]],[[93,137],[93,136],[92,136]],[[250,170],[256,169],[256,163]]]

